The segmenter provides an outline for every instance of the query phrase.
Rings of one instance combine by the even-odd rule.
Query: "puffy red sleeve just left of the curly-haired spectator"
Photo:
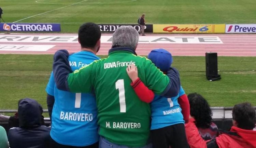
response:
[[[185,131],[190,148],[207,148],[206,142],[198,132],[194,118],[189,118],[188,123],[185,124]]]

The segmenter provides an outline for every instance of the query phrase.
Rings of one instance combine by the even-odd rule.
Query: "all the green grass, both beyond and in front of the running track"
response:
[[[1,0],[5,22],[61,23],[61,33],[76,33],[83,22],[137,23],[256,23],[255,0]],[[44,91],[53,55],[0,55],[0,109],[16,109],[30,97],[46,109]],[[102,56],[101,56],[102,57]],[[187,94],[202,94],[211,106],[256,105],[256,57],[218,57],[221,81],[205,78],[205,60],[176,56]]]

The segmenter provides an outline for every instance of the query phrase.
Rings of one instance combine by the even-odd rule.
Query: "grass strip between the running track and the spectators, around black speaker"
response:
[[[202,94],[211,106],[233,106],[239,102],[256,105],[256,57],[219,56],[222,80],[213,82],[205,78],[204,58],[174,56],[173,66],[179,69],[187,94]],[[44,90],[52,61],[53,55],[0,54],[0,109],[16,109],[17,101],[25,97],[38,100],[47,109]]]

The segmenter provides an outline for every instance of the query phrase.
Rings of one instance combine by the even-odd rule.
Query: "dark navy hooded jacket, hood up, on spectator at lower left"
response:
[[[10,148],[46,148],[50,128],[41,126],[42,106],[35,100],[25,98],[18,106],[19,128],[8,132]]]

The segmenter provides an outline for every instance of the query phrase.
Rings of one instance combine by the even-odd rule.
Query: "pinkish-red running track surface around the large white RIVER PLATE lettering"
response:
[[[4,34],[0,34],[4,35]],[[9,36],[17,35],[59,35],[59,36],[71,36],[76,34],[8,34]],[[102,36],[110,36],[112,34],[102,34]],[[168,50],[174,56],[204,56],[205,52],[217,52],[218,56],[256,56],[256,34],[146,34],[146,37],[154,36],[170,36],[170,37],[182,37],[182,36],[209,36],[219,37],[223,44],[172,44],[172,43],[141,43],[137,47],[138,55],[147,55],[152,49],[163,48]],[[52,48],[47,51],[14,51],[3,50],[1,45],[53,45]],[[101,43],[100,51],[98,55],[107,55],[111,43]],[[0,54],[54,54],[59,49],[67,49],[70,53],[80,51],[79,43],[47,43],[47,42],[9,42],[7,40],[0,39]]]

